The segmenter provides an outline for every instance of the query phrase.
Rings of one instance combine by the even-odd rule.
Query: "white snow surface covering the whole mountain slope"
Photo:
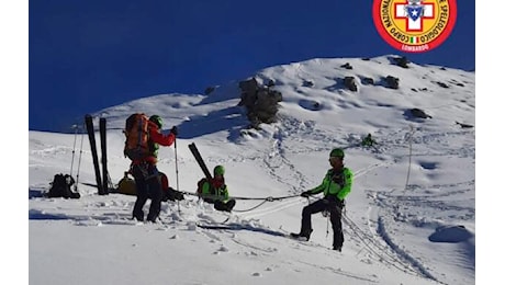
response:
[[[114,184],[130,163],[124,119],[159,114],[180,135],[177,148],[160,149],[158,168],[172,187],[193,193],[203,176],[188,148],[195,142],[210,169],[226,168],[238,197],[229,215],[186,195],[162,204],[158,224],[136,223],[134,196],[98,195],[89,186],[96,179],[86,134],[30,132],[30,284],[474,284],[475,129],[456,122],[475,125],[475,73],[405,69],[393,57],[318,58],[258,71],[257,80],[273,80],[283,98],[278,123],[261,129],[247,129],[238,82],[94,114],[96,127],[98,117],[108,119]],[[356,78],[358,92],[344,87],[346,76]],[[399,78],[400,89],[386,88],[386,76]],[[413,117],[414,107],[431,118]],[[377,148],[358,146],[368,133]],[[311,241],[283,237],[300,230],[308,202],[296,195],[321,183],[334,147],[346,148],[355,173],[343,252],[330,250],[332,227],[321,214],[312,216]],[[56,173],[79,175],[81,198],[42,197]],[[291,197],[242,200],[284,196]],[[232,229],[197,227],[226,219]]]

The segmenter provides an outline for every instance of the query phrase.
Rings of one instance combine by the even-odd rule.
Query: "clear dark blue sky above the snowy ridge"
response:
[[[402,54],[378,34],[372,0],[30,0],[29,127],[69,132],[86,113],[161,93],[202,93],[316,57],[405,55],[475,68],[475,1],[449,38]]]

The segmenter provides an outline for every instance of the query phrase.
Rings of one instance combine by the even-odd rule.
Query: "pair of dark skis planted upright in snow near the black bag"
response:
[[[88,130],[89,137],[89,145],[91,147],[91,156],[93,158],[93,167],[94,167],[94,176],[97,178],[97,187],[99,195],[108,195],[109,194],[109,171],[106,168],[106,121],[104,117],[101,117],[99,121],[99,129],[100,129],[100,145],[102,150],[102,175],[100,174],[100,166],[98,160],[98,151],[97,151],[97,140],[94,138],[94,125],[93,125],[93,117],[90,114],[85,116],[86,122],[86,129]]]

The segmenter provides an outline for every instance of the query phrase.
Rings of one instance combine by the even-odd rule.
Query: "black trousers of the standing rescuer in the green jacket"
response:
[[[301,233],[310,236],[312,232],[312,214],[323,210],[329,212],[329,221],[333,228],[333,247],[341,248],[344,244],[344,233],[341,230],[341,208],[344,203],[336,197],[329,196],[308,204],[302,210],[302,229]]]

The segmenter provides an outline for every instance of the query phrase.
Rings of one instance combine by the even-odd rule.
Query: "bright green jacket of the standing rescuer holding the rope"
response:
[[[344,201],[350,193],[352,186],[352,172],[348,168],[343,168],[340,173],[334,173],[333,169],[326,172],[323,182],[311,191],[312,194],[324,192],[324,195],[335,195],[339,201]]]

